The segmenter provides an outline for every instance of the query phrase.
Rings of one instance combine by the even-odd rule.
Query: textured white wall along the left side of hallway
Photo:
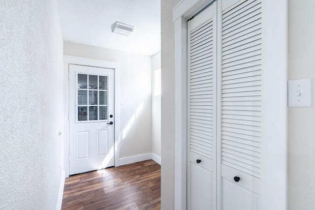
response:
[[[0,0],[0,209],[55,210],[63,170],[56,0]]]

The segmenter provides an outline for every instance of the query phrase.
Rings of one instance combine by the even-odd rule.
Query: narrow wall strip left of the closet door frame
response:
[[[174,209],[175,40],[173,8],[179,0],[161,0],[161,209]]]

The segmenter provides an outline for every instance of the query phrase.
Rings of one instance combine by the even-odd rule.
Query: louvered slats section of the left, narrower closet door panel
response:
[[[189,150],[213,159],[213,23],[190,33]]]

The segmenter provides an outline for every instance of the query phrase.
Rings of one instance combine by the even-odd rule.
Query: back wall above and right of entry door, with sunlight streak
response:
[[[63,53],[120,64],[120,158],[151,153],[151,56],[73,42],[64,42]],[[137,114],[137,110],[141,112]]]

